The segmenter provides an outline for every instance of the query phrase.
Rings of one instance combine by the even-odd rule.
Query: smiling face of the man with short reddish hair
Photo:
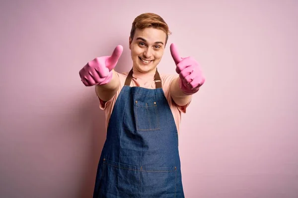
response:
[[[156,28],[136,29],[133,40],[129,39],[129,49],[133,59],[133,69],[142,73],[155,71],[165,47],[166,34]]]

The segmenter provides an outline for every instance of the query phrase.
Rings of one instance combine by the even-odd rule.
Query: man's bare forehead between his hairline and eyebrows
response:
[[[145,28],[143,30],[136,29],[134,39],[137,39],[138,37],[142,37],[149,43],[155,43],[155,42],[165,43],[165,40],[166,40],[165,32],[152,27]]]

